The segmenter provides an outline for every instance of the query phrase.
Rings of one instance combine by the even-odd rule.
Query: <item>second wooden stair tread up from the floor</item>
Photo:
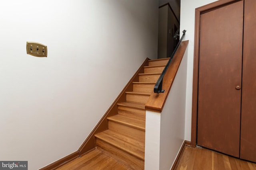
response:
[[[142,120],[142,119],[135,119],[135,118],[126,117],[123,115],[114,115],[114,116],[108,117],[108,120],[145,131],[145,120]]]

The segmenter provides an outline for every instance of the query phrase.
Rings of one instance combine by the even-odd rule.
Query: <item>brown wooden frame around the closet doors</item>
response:
[[[238,2],[241,0],[219,0],[196,8],[195,11],[195,37],[194,37],[194,67],[193,67],[193,89],[192,89],[192,122],[191,122],[191,146],[197,144],[197,112],[198,112],[198,66],[199,66],[199,38],[200,38],[200,15]]]

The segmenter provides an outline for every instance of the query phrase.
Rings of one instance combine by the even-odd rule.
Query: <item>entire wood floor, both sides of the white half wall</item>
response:
[[[57,170],[132,170],[95,149]],[[176,170],[256,170],[256,164],[204,148],[185,147]]]

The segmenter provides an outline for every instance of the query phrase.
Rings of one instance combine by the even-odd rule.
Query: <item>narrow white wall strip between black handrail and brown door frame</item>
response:
[[[188,141],[191,141],[195,9],[215,1],[216,0],[181,0],[180,2],[180,30],[187,30],[184,40],[189,40],[185,127],[185,140]]]

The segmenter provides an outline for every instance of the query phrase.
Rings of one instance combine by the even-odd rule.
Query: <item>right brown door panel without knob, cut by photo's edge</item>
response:
[[[240,158],[256,162],[256,1],[244,1]]]

